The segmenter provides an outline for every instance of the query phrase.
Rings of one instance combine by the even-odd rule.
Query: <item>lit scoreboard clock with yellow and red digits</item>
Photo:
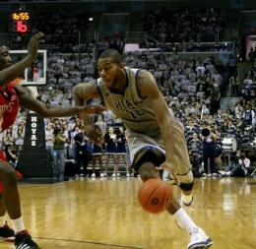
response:
[[[12,12],[11,19],[13,22],[13,31],[17,31],[17,32],[29,31],[29,21],[31,19],[30,12],[28,11]]]

